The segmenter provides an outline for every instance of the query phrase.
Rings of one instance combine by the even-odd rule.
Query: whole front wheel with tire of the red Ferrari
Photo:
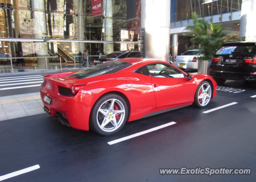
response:
[[[212,86],[208,81],[203,81],[196,89],[194,106],[203,108],[207,106],[212,98]]]

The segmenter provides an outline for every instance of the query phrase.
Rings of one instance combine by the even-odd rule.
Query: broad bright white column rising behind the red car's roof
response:
[[[169,62],[170,0],[141,0],[141,28],[145,28],[146,58]]]

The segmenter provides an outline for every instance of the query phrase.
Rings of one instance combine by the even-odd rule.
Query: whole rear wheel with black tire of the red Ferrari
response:
[[[128,106],[117,94],[107,94],[94,105],[90,117],[90,128],[101,135],[112,135],[120,131],[128,117]]]

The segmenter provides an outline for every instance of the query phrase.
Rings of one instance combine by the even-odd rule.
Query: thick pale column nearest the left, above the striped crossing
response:
[[[33,10],[34,38],[46,38],[47,31],[44,0],[32,0],[31,5]],[[38,56],[48,55],[47,43],[36,43],[36,46],[39,46],[36,52]],[[44,58],[38,58],[38,68],[46,69],[46,61]]]

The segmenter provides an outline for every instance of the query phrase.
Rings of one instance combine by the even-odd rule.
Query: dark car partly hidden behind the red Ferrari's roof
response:
[[[140,58],[140,51],[136,51],[136,50],[116,51],[116,52],[107,54],[102,58],[95,59],[94,62],[96,64],[100,64],[106,61],[112,61],[112,60],[121,59],[121,58]]]

